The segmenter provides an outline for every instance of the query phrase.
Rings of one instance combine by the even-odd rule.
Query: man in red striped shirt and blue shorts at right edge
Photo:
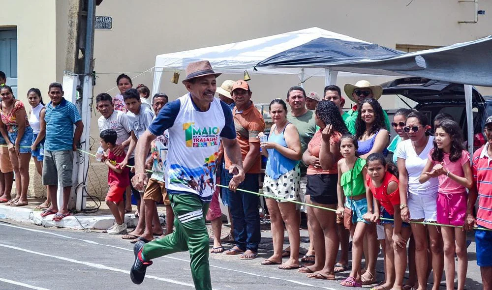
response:
[[[476,189],[472,188],[468,193],[468,204],[466,208],[465,228],[479,227],[475,231],[475,242],[477,248],[477,264],[482,274],[484,290],[492,289],[492,116],[488,117],[484,125],[484,134],[487,143],[478,148],[473,154],[471,170],[476,182]],[[478,201],[477,219],[473,217],[473,208],[477,201],[477,192],[480,196]]]

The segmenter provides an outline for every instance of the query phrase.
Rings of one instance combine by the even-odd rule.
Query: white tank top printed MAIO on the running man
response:
[[[179,100],[180,112],[169,128],[166,187],[210,201],[215,191],[215,159],[225,125],[224,111],[217,98],[207,112],[197,111],[189,94]]]

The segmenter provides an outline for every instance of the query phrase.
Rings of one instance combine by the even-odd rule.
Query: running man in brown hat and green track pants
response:
[[[229,188],[234,191],[244,180],[241,150],[236,140],[231,110],[214,97],[216,74],[207,60],[191,62],[183,81],[188,93],[168,103],[159,111],[149,128],[138,139],[135,149],[135,189],[144,190],[147,183],[145,159],[151,142],[169,132],[166,166],[166,189],[176,215],[176,230],[163,238],[145,244],[135,243],[135,261],[130,269],[131,281],[141,284],[152,259],[187,251],[191,275],[196,289],[212,289],[209,266],[209,235],[205,213],[215,187],[215,156],[220,138],[232,164]],[[176,120],[176,122],[175,122]],[[193,186],[207,169],[208,185]]]

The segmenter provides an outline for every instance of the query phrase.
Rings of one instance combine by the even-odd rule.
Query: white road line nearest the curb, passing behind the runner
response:
[[[51,235],[55,235],[55,236],[67,238],[67,239],[78,240],[78,241],[86,242],[86,243],[89,243],[89,244],[94,244],[94,245],[99,245],[99,246],[116,248],[116,249],[120,249],[120,250],[123,250],[123,251],[133,252],[133,250],[131,250],[131,249],[127,249],[127,248],[123,248],[123,247],[118,247],[118,246],[113,246],[113,245],[101,244],[101,243],[98,243],[98,242],[95,242],[95,241],[92,241],[92,240],[74,238],[74,237],[71,237],[71,236],[62,235],[62,234],[54,233],[54,232],[46,232],[46,231],[41,231],[41,230],[23,228],[23,227],[19,227],[19,226],[4,224],[4,223],[0,223],[0,226],[5,226],[5,227],[10,227],[10,228],[15,228],[15,229],[21,229],[21,230],[26,230],[26,231],[31,231],[31,232],[41,232],[41,233],[46,233],[46,234],[51,234]],[[177,261],[184,261],[184,262],[187,262],[187,263],[190,262],[189,260],[180,259],[180,258],[174,258],[174,257],[171,257],[171,256],[163,256],[162,258],[167,258],[167,259],[177,260]],[[220,266],[215,266],[215,265],[212,265],[212,264],[210,266],[211,267],[214,267],[214,268],[217,268],[217,269],[221,269],[221,270],[238,272],[238,273],[243,273],[243,274],[246,274],[246,275],[251,275],[251,276],[256,276],[256,277],[263,277],[263,278],[268,278],[268,279],[287,281],[287,282],[291,282],[291,283],[298,284],[298,285],[303,285],[303,286],[309,286],[309,287],[315,287],[315,288],[321,288],[321,289],[327,289],[327,290],[336,290],[334,288],[321,287],[321,286],[312,285],[312,284],[308,284],[308,283],[304,283],[304,282],[300,282],[300,281],[296,281],[296,280],[283,279],[283,278],[271,277],[271,276],[264,276],[264,275],[259,275],[259,274],[255,274],[255,273],[250,273],[250,272],[245,272],[245,271],[240,271],[240,270],[234,270],[234,269],[224,268],[224,267],[220,267]],[[126,272],[129,272],[129,271],[126,271]],[[146,275],[145,277],[149,277],[149,276]],[[164,278],[162,278],[162,279],[164,279]]]

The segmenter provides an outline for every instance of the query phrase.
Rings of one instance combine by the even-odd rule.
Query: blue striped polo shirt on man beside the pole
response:
[[[46,141],[44,149],[48,151],[72,150],[73,124],[82,120],[75,105],[62,98],[58,106],[52,102],[46,106]]]

